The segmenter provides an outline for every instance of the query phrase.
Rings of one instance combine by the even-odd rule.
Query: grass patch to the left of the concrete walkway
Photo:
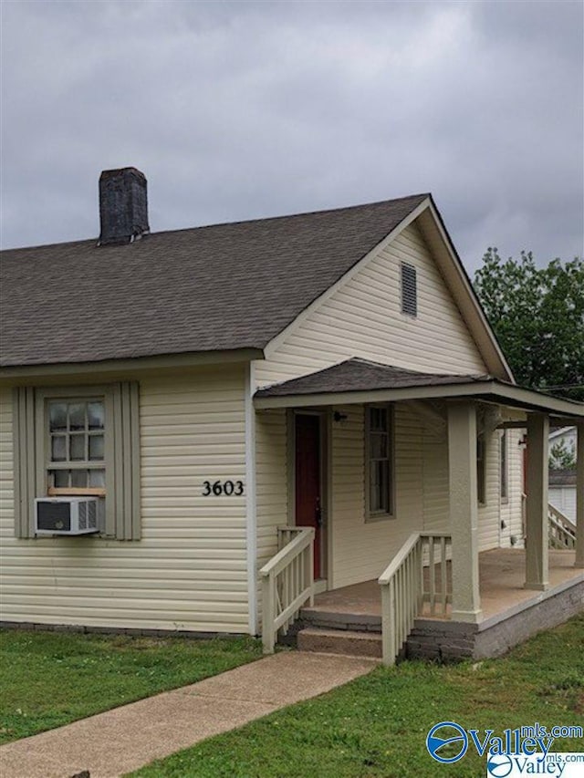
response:
[[[252,638],[193,640],[5,630],[0,742],[108,711],[261,656]]]

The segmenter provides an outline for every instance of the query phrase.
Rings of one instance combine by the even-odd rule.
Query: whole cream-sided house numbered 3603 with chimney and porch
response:
[[[150,233],[140,171],[99,193],[99,241],[2,257],[5,623],[271,650],[372,580],[392,661],[582,607],[584,520],[548,555],[547,434],[574,424],[581,451],[584,406],[516,386],[431,195]],[[39,534],[68,532],[47,498],[89,498],[99,531]],[[521,577],[510,615],[487,552]]]

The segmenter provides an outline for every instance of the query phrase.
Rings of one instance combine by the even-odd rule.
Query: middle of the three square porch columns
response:
[[[549,586],[547,568],[547,457],[549,419],[527,417],[526,589]]]

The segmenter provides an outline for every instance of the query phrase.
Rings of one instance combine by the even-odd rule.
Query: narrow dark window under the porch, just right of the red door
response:
[[[366,409],[366,518],[393,513],[393,441],[391,407]]]

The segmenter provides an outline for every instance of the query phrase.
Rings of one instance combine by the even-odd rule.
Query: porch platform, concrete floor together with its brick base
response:
[[[504,653],[541,629],[551,628],[584,607],[584,571],[574,566],[573,551],[549,552],[545,592],[525,588],[525,552],[496,548],[479,554],[482,619],[468,623],[430,616],[424,604],[415,618],[402,655],[409,659],[481,659]],[[427,574],[426,568],[426,574]],[[321,650],[335,650],[330,630],[370,633],[370,650],[381,656],[381,586],[377,579],[324,592],[300,612],[302,625],[324,630]],[[328,632],[326,631],[328,630]],[[328,644],[327,644],[328,636]],[[318,639],[318,638],[317,638]],[[343,641],[339,641],[342,649]]]

